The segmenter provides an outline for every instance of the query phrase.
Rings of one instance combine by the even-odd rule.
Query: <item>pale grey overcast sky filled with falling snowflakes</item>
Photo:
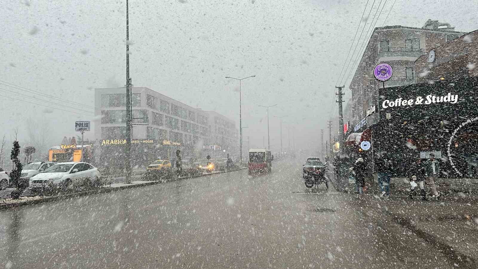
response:
[[[250,146],[262,146],[262,136],[267,144],[266,112],[258,105],[276,103],[270,112],[271,146],[280,145],[279,120],[272,115],[289,115],[283,120],[284,147],[289,123],[295,123],[297,145],[318,146],[366,2],[130,0],[132,83],[222,113],[239,128],[239,84],[224,77],[256,75],[242,83],[242,123],[249,127],[244,136],[251,137]],[[372,21],[379,2],[380,10],[385,6],[375,26],[382,25],[394,0],[376,0],[362,23]],[[469,32],[478,28],[476,14],[476,0],[396,0],[385,25],[422,27],[432,19]],[[0,83],[88,106],[94,105],[94,88],[125,84],[125,1],[2,0],[0,18]],[[22,138],[25,119],[43,119],[57,145],[75,134],[74,121],[93,120],[92,113],[27,103],[47,105],[19,94],[41,95],[2,84],[0,130],[7,136],[19,127]],[[84,112],[65,105],[58,108]],[[85,135],[91,139],[92,133]]]

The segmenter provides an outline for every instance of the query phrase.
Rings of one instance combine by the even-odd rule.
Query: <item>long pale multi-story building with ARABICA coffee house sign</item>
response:
[[[219,113],[204,112],[144,87],[131,89],[131,103],[134,124],[131,143],[137,148],[135,159],[144,161],[171,158],[176,149],[181,149],[184,156],[202,155],[203,146],[213,143],[210,113],[227,119]],[[95,137],[100,139],[102,146],[124,144],[125,88],[95,89],[95,107],[101,108],[95,112],[94,124]],[[233,121],[228,120],[228,124],[234,127]],[[227,143],[234,145],[235,141],[229,139]]]

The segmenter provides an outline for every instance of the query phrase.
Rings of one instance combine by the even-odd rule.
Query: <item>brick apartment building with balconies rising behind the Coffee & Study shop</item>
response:
[[[422,28],[401,25],[375,28],[349,86],[352,97],[344,110],[345,121],[355,125],[367,117],[367,110],[377,104],[379,88],[416,83],[417,74],[423,70],[417,70],[415,60],[462,34],[465,33],[456,32],[449,23],[432,20]],[[393,76],[384,83],[373,75],[379,63],[388,63],[393,68]]]

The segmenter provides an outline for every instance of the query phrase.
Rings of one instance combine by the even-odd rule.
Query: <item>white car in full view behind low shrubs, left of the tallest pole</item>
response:
[[[71,187],[73,183],[80,179],[90,179],[93,182],[100,178],[98,168],[83,162],[66,162],[55,164],[43,173],[30,178],[29,188],[43,188],[49,184],[58,185],[64,182],[66,187]]]

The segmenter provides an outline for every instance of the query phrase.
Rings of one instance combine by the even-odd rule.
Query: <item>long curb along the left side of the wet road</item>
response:
[[[120,187],[113,187],[113,188],[107,187],[107,188],[99,189],[99,190],[82,191],[82,192],[76,192],[76,193],[71,193],[71,194],[46,197],[46,198],[37,199],[37,200],[4,203],[4,204],[0,204],[0,211],[1,210],[12,209],[12,208],[17,208],[17,207],[22,207],[22,206],[26,206],[26,205],[39,204],[39,203],[45,203],[45,202],[54,202],[54,201],[60,201],[60,200],[66,200],[66,199],[73,199],[73,198],[77,198],[77,197],[83,197],[83,196],[89,196],[89,195],[95,195],[95,194],[102,194],[102,193],[109,193],[109,192],[114,192],[114,191],[121,191],[121,190],[139,188],[139,187],[145,187],[145,186],[151,186],[151,185],[157,185],[157,184],[168,183],[168,182],[184,180],[184,179],[214,176],[214,175],[219,175],[219,174],[222,174],[222,173],[239,171],[239,170],[242,170],[242,169],[247,169],[247,168],[239,168],[239,169],[234,169],[234,170],[229,170],[229,171],[219,171],[217,173],[201,174],[199,176],[190,176],[190,177],[184,177],[184,178],[173,179],[173,180],[165,180],[165,181],[158,180],[158,181],[154,181],[154,182],[137,183],[137,184],[134,184],[134,185],[127,185],[127,186],[120,186]]]

